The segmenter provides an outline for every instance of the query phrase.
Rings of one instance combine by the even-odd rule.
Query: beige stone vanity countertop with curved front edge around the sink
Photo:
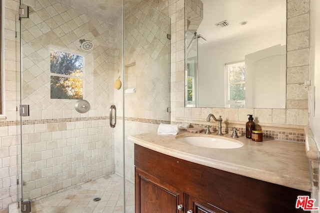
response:
[[[268,138],[263,138],[263,142],[254,142],[245,136],[239,136],[235,140],[244,144],[240,148],[211,149],[188,145],[175,139],[184,135],[207,136],[203,133],[180,131],[176,136],[144,133],[128,136],[128,140],[182,160],[311,192],[311,176],[304,143]],[[209,136],[232,139],[230,134],[216,136],[212,133]]]

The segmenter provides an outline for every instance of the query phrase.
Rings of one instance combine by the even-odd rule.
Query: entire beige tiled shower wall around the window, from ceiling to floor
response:
[[[108,18],[57,0],[27,1],[22,19],[22,103],[30,116],[22,126],[23,199],[37,200],[114,172],[113,130],[108,126],[109,94],[120,31]],[[65,2],[65,3],[64,3]],[[93,42],[84,51],[80,39]],[[50,99],[50,50],[84,59],[83,99],[90,110],[75,111],[76,100]]]

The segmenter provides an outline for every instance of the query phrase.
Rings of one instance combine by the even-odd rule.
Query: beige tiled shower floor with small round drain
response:
[[[125,184],[125,213],[134,213],[134,186]],[[32,202],[31,213],[123,213],[122,178],[109,175]]]

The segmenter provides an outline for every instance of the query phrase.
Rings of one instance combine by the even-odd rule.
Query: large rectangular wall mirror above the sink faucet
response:
[[[286,0],[185,0],[185,107],[285,108],[285,89]]]

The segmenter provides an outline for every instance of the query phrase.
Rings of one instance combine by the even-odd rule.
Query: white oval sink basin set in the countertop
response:
[[[222,139],[213,136],[177,136],[175,139],[192,146],[205,148],[235,149],[243,146],[243,144],[237,140]]]

